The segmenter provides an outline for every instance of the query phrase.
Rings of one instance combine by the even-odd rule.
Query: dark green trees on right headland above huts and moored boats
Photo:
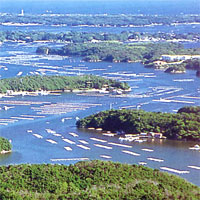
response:
[[[183,107],[178,113],[143,110],[107,110],[77,121],[79,128],[138,134],[159,132],[169,139],[200,140],[200,107]]]

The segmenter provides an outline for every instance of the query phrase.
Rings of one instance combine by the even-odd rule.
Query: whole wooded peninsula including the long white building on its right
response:
[[[81,56],[89,62],[142,62],[145,67],[162,69],[169,73],[185,73],[186,69],[195,69],[198,73],[200,70],[200,48],[185,49],[181,44],[170,42],[70,43],[61,48],[38,47],[36,52],[61,56]],[[167,59],[163,55],[166,55]]]

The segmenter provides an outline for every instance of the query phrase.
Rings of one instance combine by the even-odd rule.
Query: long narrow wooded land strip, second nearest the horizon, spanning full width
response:
[[[24,41],[24,42],[36,42],[36,41],[57,41],[57,42],[71,42],[71,43],[83,43],[83,42],[103,42],[103,41],[120,41],[120,42],[132,42],[132,41],[171,41],[171,40],[189,40],[199,41],[199,33],[145,33],[145,32],[131,32],[123,31],[121,33],[91,33],[91,32],[75,32],[67,31],[60,33],[47,33],[44,31],[0,31],[0,41]]]

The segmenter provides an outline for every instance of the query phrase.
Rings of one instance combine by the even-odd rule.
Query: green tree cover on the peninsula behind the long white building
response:
[[[200,54],[200,49],[184,49],[177,43],[120,42],[72,43],[61,48],[38,47],[40,54],[82,56],[86,61],[143,62],[145,65],[160,59],[162,54]]]

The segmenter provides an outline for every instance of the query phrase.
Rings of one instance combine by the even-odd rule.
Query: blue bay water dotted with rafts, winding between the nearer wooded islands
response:
[[[37,46],[42,44],[22,44],[22,43],[4,43],[1,48],[1,65],[6,66],[0,69],[2,78],[14,77],[19,72],[22,75],[32,73],[41,73],[38,69],[47,69],[45,74],[49,75],[78,75],[78,74],[96,74],[105,77],[117,78],[126,80],[132,87],[130,97],[113,97],[103,95],[98,97],[82,96],[79,94],[66,93],[60,96],[17,96],[12,98],[2,98],[1,106],[5,105],[3,101],[29,101],[41,102],[40,105],[7,105],[11,108],[7,111],[0,112],[0,119],[12,119],[12,117],[35,116],[34,120],[18,119],[14,123],[8,123],[7,126],[0,126],[1,136],[12,140],[13,153],[10,155],[1,156],[0,164],[18,164],[18,163],[62,163],[70,164],[77,161],[52,161],[51,159],[70,159],[70,158],[88,158],[105,159],[102,155],[111,156],[111,160],[123,163],[146,162],[147,166],[160,168],[167,166],[179,170],[188,170],[189,174],[183,174],[182,177],[200,185],[199,172],[195,169],[189,169],[187,166],[198,166],[200,156],[198,151],[189,150],[189,147],[194,146],[194,142],[170,141],[170,140],[149,140],[143,143],[123,143],[130,145],[131,148],[112,146],[109,143],[120,143],[118,137],[103,136],[99,132],[91,132],[86,130],[76,129],[76,118],[82,118],[92,113],[101,110],[112,108],[129,107],[140,108],[146,111],[156,112],[176,112],[182,106],[200,105],[200,79],[195,76],[195,71],[188,70],[186,74],[171,75],[163,71],[155,71],[154,69],[144,68],[140,63],[87,63],[82,62],[81,58],[71,57],[50,57],[39,56],[35,54]],[[54,44],[56,45],[56,44]],[[57,44],[58,46],[60,44]],[[25,59],[25,60],[24,60]],[[5,63],[4,63],[5,62]],[[12,63],[13,62],[13,63]],[[28,64],[27,64],[28,62]],[[12,64],[11,64],[12,63]],[[27,65],[24,65],[27,64]],[[50,67],[50,68],[49,68]],[[48,71],[51,67],[58,67],[55,71]],[[71,74],[74,73],[74,74]],[[180,81],[180,80],[186,80]],[[194,98],[192,98],[194,97]],[[182,103],[157,102],[160,98],[168,98],[172,100],[182,101]],[[187,102],[187,103],[184,103]],[[189,103],[188,103],[189,102]],[[90,107],[86,110],[76,110],[60,115],[44,114],[44,118],[37,118],[41,114],[33,109],[33,107],[48,106],[55,103],[78,103],[83,105],[100,104]],[[70,118],[62,122],[63,118]],[[55,136],[47,133],[46,129],[52,129],[60,136]],[[27,130],[32,130],[28,133]],[[73,137],[69,133],[75,132],[79,136]],[[43,138],[39,139],[34,134],[39,134]],[[91,140],[92,137],[104,139],[107,142],[103,145],[112,147],[112,149],[103,149],[94,144],[101,144]],[[63,138],[70,139],[75,144],[68,144],[63,141]],[[47,142],[51,139],[57,144]],[[77,145],[80,145],[79,140],[87,141],[90,150],[84,150]],[[66,151],[64,147],[71,147],[72,151]],[[149,153],[142,149],[149,148],[154,151]],[[140,154],[140,156],[131,156],[123,153],[123,150],[129,150]],[[160,158],[164,162],[149,161],[148,158]],[[177,162],[177,160],[179,162]]]

